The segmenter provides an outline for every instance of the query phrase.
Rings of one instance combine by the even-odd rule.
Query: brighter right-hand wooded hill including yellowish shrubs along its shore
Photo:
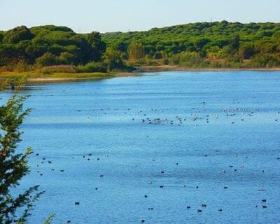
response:
[[[142,45],[146,63],[185,66],[280,65],[280,23],[197,22],[149,31],[107,33],[102,40],[130,57],[130,46]],[[142,57],[139,54],[138,59]]]

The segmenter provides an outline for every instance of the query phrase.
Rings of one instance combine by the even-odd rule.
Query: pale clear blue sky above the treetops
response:
[[[280,22],[280,0],[0,0],[0,30],[53,24],[81,33],[141,31],[211,18]]]

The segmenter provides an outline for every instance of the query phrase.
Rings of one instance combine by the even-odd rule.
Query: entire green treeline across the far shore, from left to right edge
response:
[[[1,70],[59,65],[73,72],[111,71],[137,64],[280,66],[280,23],[202,22],[106,34],[53,25],[0,31]]]

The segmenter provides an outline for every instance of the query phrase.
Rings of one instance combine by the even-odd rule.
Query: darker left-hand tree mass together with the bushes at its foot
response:
[[[110,57],[109,55],[114,55]],[[106,63],[105,63],[106,62]],[[118,52],[106,48],[99,32],[76,34],[68,27],[53,25],[16,27],[0,32],[2,70],[29,70],[55,65],[72,65],[73,71],[107,71],[123,68]],[[69,66],[55,68],[69,70]]]

